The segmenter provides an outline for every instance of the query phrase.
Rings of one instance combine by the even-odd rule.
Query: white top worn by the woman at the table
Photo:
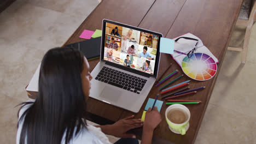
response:
[[[30,107],[31,105],[32,104],[28,104],[20,110],[19,119],[21,115],[25,112],[25,110],[27,110],[28,107]],[[16,144],[19,144],[20,142],[20,133],[21,133],[23,123],[24,123],[24,119],[22,119],[19,123],[19,128],[18,128],[17,137],[16,137]],[[66,135],[66,133],[64,133],[63,135]],[[62,137],[61,143],[65,143],[65,137]],[[83,128],[82,130],[80,130],[77,136],[73,136],[73,138],[69,141],[69,143],[109,144],[110,142],[108,140],[108,137],[104,133],[102,133],[101,128],[96,128],[93,125],[88,124],[87,129]]]

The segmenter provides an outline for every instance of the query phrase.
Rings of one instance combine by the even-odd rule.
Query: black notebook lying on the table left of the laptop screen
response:
[[[73,47],[75,49],[79,49],[84,53],[84,56],[90,60],[97,57],[100,57],[101,53],[101,37],[80,41],[78,43],[73,43],[69,45],[65,45],[68,47]]]

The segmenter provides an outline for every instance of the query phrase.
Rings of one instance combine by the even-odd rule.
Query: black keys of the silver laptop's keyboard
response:
[[[95,80],[108,83],[110,85],[123,88],[127,91],[139,94],[145,86],[147,80],[124,72],[103,67],[95,77]]]

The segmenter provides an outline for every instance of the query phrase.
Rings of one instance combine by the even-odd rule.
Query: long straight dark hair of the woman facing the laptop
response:
[[[20,143],[61,143],[62,137],[68,143],[86,128],[83,65],[84,55],[76,49],[57,47],[46,52],[40,67],[38,97],[20,108],[32,104],[19,119],[25,118]]]

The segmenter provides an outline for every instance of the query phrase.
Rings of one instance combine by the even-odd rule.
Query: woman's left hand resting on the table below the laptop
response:
[[[108,125],[108,130],[106,131],[108,135],[113,135],[115,137],[123,138],[136,138],[135,134],[127,134],[126,132],[130,129],[142,127],[143,121],[141,119],[134,119],[134,116],[126,117],[115,122],[112,125]]]

